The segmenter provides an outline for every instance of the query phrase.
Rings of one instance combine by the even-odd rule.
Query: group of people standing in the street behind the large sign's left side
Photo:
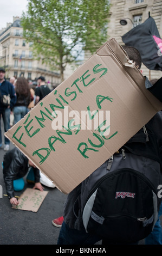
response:
[[[40,76],[34,82],[25,77],[5,79],[5,69],[0,68],[0,122],[3,119],[4,132],[20,121],[31,108],[51,92],[45,77]],[[7,101],[7,102],[6,102]],[[4,151],[8,151],[10,141],[4,137]],[[0,148],[2,148],[2,131],[0,124]]]

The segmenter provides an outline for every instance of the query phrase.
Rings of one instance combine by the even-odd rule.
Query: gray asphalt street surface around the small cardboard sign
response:
[[[2,122],[1,122],[2,123]],[[3,130],[3,126],[2,126]],[[4,143],[4,138],[3,138]],[[15,147],[10,143],[10,149]],[[3,194],[6,194],[2,173],[2,161],[5,152],[0,149],[0,185]],[[33,185],[25,182],[25,188]],[[40,209],[37,212],[15,210],[11,208],[8,197],[0,198],[0,245],[56,245],[60,228],[54,227],[51,221],[62,216],[63,204],[67,195],[57,188],[44,186],[44,191],[48,191]],[[20,196],[22,192],[16,192]],[[139,245],[144,245],[141,240]],[[101,241],[97,243],[101,245]]]

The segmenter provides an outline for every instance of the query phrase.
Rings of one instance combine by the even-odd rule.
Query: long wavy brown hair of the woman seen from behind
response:
[[[19,95],[28,96],[30,93],[30,87],[28,81],[24,77],[18,77],[15,84],[15,91]]]

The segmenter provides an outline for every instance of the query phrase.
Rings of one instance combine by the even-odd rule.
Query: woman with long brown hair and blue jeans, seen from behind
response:
[[[18,77],[15,84],[15,92],[17,101],[14,106],[14,123],[20,121],[28,112],[30,103],[30,87],[28,81],[24,77]]]

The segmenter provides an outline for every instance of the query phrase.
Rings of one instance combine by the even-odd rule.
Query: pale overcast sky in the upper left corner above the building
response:
[[[0,5],[0,30],[7,26],[7,22],[13,22],[13,16],[21,17],[26,11],[27,0],[1,0]]]

